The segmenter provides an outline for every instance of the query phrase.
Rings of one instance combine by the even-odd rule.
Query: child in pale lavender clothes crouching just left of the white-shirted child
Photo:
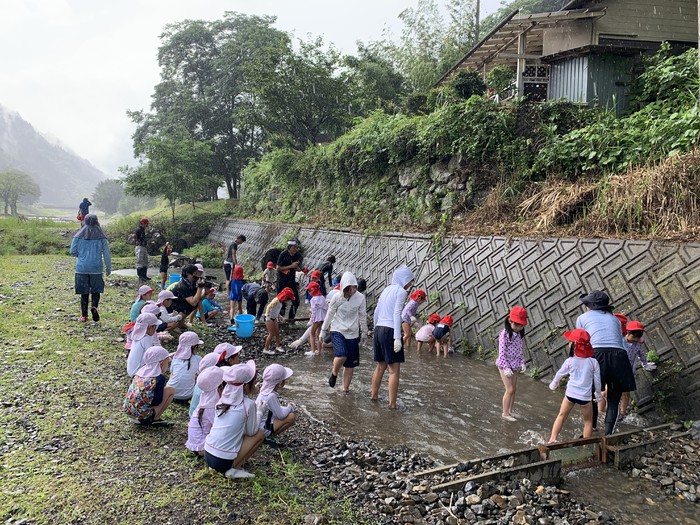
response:
[[[195,413],[190,415],[185,447],[200,456],[204,456],[204,440],[209,435],[214,423],[216,405],[219,403],[221,393],[219,388],[223,380],[224,371],[216,366],[200,372],[199,377],[197,377],[197,386],[202,394],[194,409]]]

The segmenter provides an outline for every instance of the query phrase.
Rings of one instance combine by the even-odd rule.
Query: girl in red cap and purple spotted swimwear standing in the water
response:
[[[498,336],[498,359],[496,359],[496,366],[506,389],[503,394],[501,417],[506,421],[515,421],[513,402],[515,401],[518,376],[514,372],[525,372],[525,354],[523,352],[523,339],[525,339],[525,326],[527,325],[525,308],[522,306],[511,308],[504,325],[505,327]],[[437,328],[435,330],[437,331]],[[439,348],[438,353],[440,353]]]

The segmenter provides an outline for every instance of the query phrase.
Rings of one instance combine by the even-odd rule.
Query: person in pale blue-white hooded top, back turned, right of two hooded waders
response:
[[[374,360],[377,367],[372,374],[371,399],[376,401],[384,372],[389,369],[389,408],[396,409],[399,393],[401,363],[405,361],[401,332],[401,310],[413,285],[413,272],[407,266],[399,267],[391,276],[391,284],[384,288],[374,310]]]

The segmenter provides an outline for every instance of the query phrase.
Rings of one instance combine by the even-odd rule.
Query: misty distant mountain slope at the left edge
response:
[[[39,200],[56,207],[77,209],[107,178],[59,140],[41,135],[19,113],[0,106],[0,170],[7,168],[31,175],[41,188]]]

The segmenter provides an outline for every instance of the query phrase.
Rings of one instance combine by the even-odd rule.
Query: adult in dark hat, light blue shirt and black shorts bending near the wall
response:
[[[622,325],[613,315],[610,297],[593,290],[579,296],[586,312],[576,319],[576,328],[591,336],[591,346],[600,365],[600,380],[607,388],[608,407],[605,411],[605,435],[615,430],[617,412],[623,392],[636,390],[634,372],[627,357],[627,343],[622,337]],[[602,405],[601,405],[602,410]]]

